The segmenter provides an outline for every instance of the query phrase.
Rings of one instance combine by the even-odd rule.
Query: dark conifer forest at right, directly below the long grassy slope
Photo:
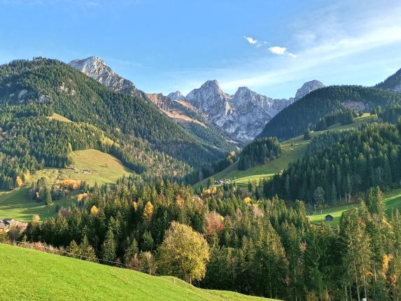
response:
[[[304,158],[264,181],[263,193],[324,206],[372,186],[397,186],[401,180],[400,129],[400,124],[372,123],[360,130],[319,135]]]

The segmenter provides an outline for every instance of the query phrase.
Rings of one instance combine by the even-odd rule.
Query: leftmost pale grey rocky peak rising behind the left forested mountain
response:
[[[99,81],[102,85],[109,87],[115,92],[136,95],[140,91],[136,89],[132,81],[122,78],[115,73],[99,57],[87,57],[86,59],[74,59],[69,65]]]

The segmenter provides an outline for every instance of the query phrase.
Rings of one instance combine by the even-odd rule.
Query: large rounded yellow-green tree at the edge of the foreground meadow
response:
[[[172,222],[158,251],[157,267],[162,274],[177,276],[189,283],[204,278],[210,259],[209,245],[190,226]]]

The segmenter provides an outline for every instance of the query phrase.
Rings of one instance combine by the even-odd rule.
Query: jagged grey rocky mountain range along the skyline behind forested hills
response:
[[[232,140],[240,144],[252,141],[277,113],[309,92],[324,87],[318,80],[311,80],[297,90],[295,97],[273,99],[248,87],[239,87],[234,95],[230,95],[223,92],[217,80],[207,80],[186,96],[180,91],[164,96],[138,90],[99,57],[74,59],[69,64],[115,92],[141,94],[195,136],[199,136],[199,132],[213,132],[218,141],[223,139],[227,143]]]

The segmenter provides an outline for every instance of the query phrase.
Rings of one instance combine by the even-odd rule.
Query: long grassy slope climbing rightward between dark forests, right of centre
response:
[[[351,125],[340,125],[339,123],[332,125],[328,128],[328,130],[349,130],[353,128],[359,127],[361,124],[366,123],[372,120],[372,116],[370,114],[363,114],[362,117],[355,118],[355,122]],[[316,136],[321,134],[322,132],[312,132],[311,135]],[[265,178],[268,176],[272,176],[281,172],[281,170],[286,169],[288,163],[293,162],[302,156],[307,151],[307,145],[309,144],[309,140],[305,141],[303,136],[298,136],[292,139],[288,139],[281,143],[281,147],[283,148],[283,153],[279,158],[268,162],[264,165],[257,165],[255,167],[251,167],[246,170],[238,170],[238,163],[234,163],[233,165],[227,167],[222,172],[218,174],[214,174],[213,178],[215,180],[220,179],[230,179],[235,180],[238,184],[246,184],[248,180],[259,181],[261,178]],[[206,187],[207,179],[201,182],[203,187]],[[199,188],[201,183],[197,183],[195,188]]]

